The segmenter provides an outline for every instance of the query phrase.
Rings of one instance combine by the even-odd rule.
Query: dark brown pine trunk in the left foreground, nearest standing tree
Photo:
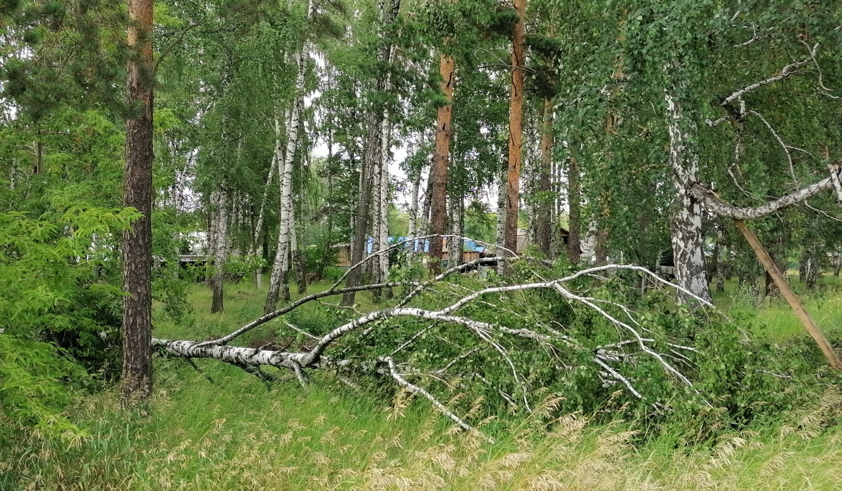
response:
[[[123,205],[143,216],[123,232],[122,403],[152,392],[152,0],[129,0],[127,73],[129,104],[140,104],[125,122]]]

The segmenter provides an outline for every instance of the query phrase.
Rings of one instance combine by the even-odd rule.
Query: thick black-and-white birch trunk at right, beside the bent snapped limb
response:
[[[664,100],[667,104],[669,161],[675,186],[676,210],[671,224],[675,277],[679,286],[710,301],[711,289],[707,283],[702,250],[701,204],[691,191],[699,168],[699,157],[690,147],[690,134],[684,129],[693,131],[695,125],[685,120],[679,102],[669,90],[664,91]]]

